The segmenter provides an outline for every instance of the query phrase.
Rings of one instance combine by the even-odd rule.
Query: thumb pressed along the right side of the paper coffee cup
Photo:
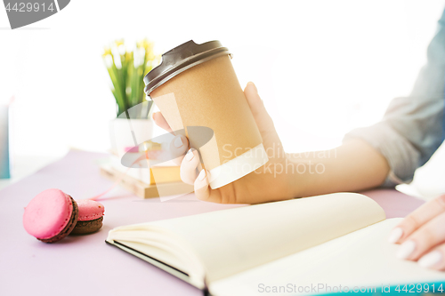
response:
[[[270,134],[277,135],[271,116],[267,113],[263,100],[261,100],[260,95],[256,90],[255,84],[249,82],[244,89],[244,94],[262,136]]]

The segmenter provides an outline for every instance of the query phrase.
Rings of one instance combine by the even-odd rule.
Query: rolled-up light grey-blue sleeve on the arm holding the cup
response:
[[[386,187],[412,180],[444,140],[445,11],[427,58],[408,97],[392,100],[381,122],[344,137],[368,141],[387,159],[391,172]]]

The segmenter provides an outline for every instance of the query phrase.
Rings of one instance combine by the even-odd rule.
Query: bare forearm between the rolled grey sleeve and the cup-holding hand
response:
[[[327,151],[290,154],[287,159],[295,166],[291,182],[299,197],[374,188],[389,172],[384,156],[364,140],[349,140]]]

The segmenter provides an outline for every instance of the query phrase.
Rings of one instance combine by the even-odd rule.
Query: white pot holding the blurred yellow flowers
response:
[[[137,146],[153,136],[153,120],[116,118],[109,123],[111,150],[124,156],[128,148]]]

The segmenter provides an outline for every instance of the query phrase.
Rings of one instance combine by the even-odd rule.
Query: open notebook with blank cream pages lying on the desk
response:
[[[398,221],[367,196],[336,193],[114,228],[107,243],[218,296],[445,280],[395,259],[386,237]]]

